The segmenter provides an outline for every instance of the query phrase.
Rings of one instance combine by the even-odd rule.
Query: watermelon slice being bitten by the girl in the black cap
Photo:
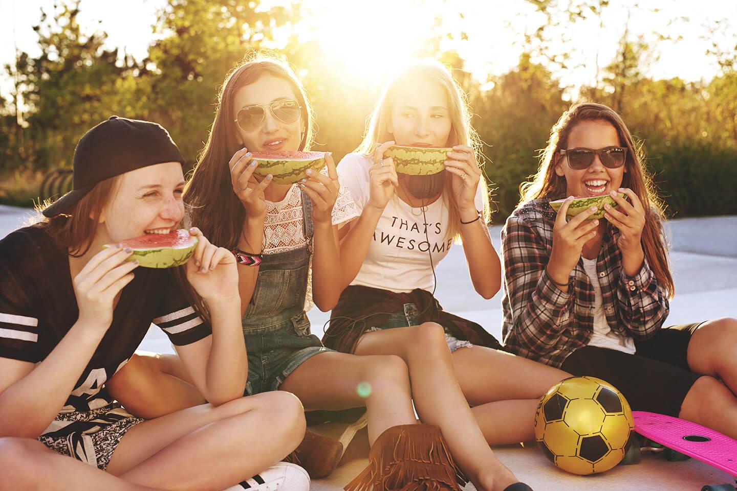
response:
[[[170,233],[147,233],[103,247],[130,247],[133,254],[128,261],[138,259],[144,268],[171,268],[186,263],[197,246],[197,237],[189,235],[189,230],[175,230]]]

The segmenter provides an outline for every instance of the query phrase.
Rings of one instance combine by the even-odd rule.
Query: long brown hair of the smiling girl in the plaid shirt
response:
[[[643,145],[635,143],[632,133],[624,124],[624,120],[611,107],[587,102],[573,105],[562,114],[551,129],[548,146],[545,147],[540,156],[540,166],[537,174],[534,175],[531,181],[520,185],[520,204],[532,199],[560,199],[565,197],[565,177],[556,174],[555,166],[559,158],[559,150],[567,146],[570,131],[581,121],[608,122],[617,130],[620,144],[627,147],[627,157],[624,163],[627,172],[624,173],[622,187],[635,191],[643,204],[643,208],[645,208],[645,227],[642,234],[643,251],[658,283],[666,289],[668,297],[673,297],[675,285],[671,276],[668,249],[662,225],[665,219],[665,204],[663,199],[660,199],[657,195],[652,177],[645,169]]]

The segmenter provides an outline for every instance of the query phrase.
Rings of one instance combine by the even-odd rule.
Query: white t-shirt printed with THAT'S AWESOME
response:
[[[373,164],[371,158],[351,153],[338,165],[341,186],[351,191],[362,210],[371,198],[368,169]],[[479,183],[475,197],[478,210],[483,209],[483,199]],[[433,292],[433,266],[447,255],[453,237],[448,232],[449,213],[444,197],[423,208],[411,207],[396,194],[389,200],[352,285],[403,293],[416,288]],[[430,258],[433,266],[430,266]]]

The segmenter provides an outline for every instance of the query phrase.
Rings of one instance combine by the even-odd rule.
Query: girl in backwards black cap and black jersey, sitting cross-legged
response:
[[[179,227],[182,163],[164,128],[113,117],[77,145],[74,191],[0,241],[0,489],[222,489],[300,442],[296,398],[242,397],[248,361],[231,252],[190,229],[198,245],[184,269],[200,314],[171,269],[139,268],[120,244],[102,250]],[[212,404],[144,421],[111,398],[105,381],[151,322]],[[263,477],[249,484],[309,488],[291,464]]]

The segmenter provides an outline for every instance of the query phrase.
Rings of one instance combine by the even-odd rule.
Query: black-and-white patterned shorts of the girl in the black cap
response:
[[[119,403],[59,414],[38,441],[62,455],[105,470],[125,433],[144,420]]]

